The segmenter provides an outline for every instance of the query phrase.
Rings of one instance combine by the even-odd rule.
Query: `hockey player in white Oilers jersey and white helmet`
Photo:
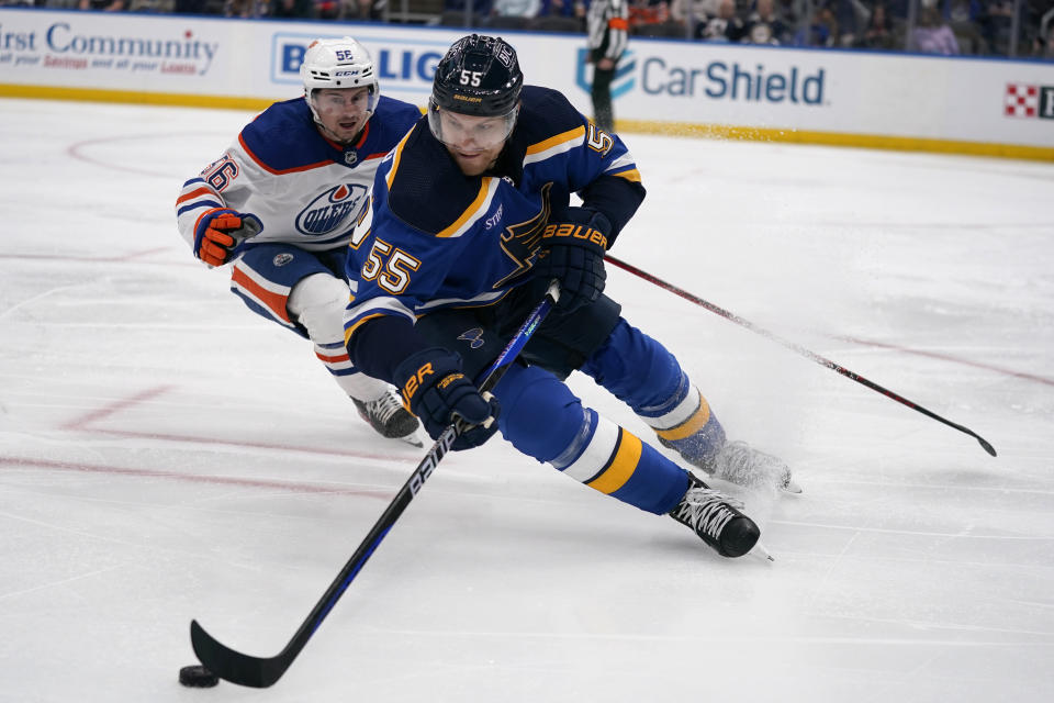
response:
[[[246,125],[226,153],[183,183],[179,232],[209,266],[232,263],[231,290],[304,336],[363,420],[416,444],[417,419],[344,348],[348,241],[381,158],[421,116],[380,94],[369,52],[350,37],[311,44],[304,96]]]

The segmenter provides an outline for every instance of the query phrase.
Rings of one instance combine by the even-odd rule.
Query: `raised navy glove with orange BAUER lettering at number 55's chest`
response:
[[[604,252],[612,224],[599,212],[568,208],[546,225],[541,235],[535,276],[560,281],[556,310],[569,313],[594,302],[604,292],[607,271]]]

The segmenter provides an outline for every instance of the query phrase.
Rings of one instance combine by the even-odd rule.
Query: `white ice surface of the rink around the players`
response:
[[[971,437],[612,269],[729,434],[776,562],[495,440],[445,459],[266,691],[182,689],[197,617],[277,654],[423,450],[175,228],[250,114],[0,101],[0,701],[1045,701],[1054,166],[628,135],[615,253]],[[644,434],[591,381],[573,388]]]

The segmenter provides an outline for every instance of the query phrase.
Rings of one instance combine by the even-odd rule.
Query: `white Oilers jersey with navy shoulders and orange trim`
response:
[[[183,183],[176,201],[179,232],[193,247],[202,215],[226,208],[262,224],[243,246],[347,246],[378,165],[419,118],[414,105],[382,96],[359,141],[345,147],[318,132],[304,98],[274,103],[220,160]]]

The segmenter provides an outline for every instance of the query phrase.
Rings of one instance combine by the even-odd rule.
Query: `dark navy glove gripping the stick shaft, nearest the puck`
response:
[[[478,447],[497,432],[493,421],[501,406],[495,399],[484,398],[466,378],[457,354],[441,347],[418,352],[399,365],[393,380],[403,404],[417,415],[433,439],[438,439],[457,419],[470,425],[453,440],[450,448],[455,451]]]

